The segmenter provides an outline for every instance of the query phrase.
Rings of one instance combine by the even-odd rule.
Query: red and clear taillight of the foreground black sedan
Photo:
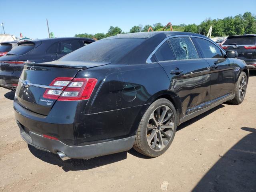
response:
[[[62,89],[46,89],[43,97],[59,101],[86,100],[89,99],[97,83],[94,78],[55,78],[50,86],[62,87]]]

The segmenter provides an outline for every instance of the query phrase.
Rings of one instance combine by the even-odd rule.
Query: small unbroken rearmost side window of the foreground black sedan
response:
[[[164,42],[160,48],[155,52],[154,56],[158,61],[170,61],[175,60],[172,49],[170,48],[169,43]]]

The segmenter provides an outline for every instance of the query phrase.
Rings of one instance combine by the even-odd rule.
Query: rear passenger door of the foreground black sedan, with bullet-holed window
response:
[[[154,57],[170,78],[170,89],[182,102],[183,116],[210,105],[210,67],[200,58],[190,37],[170,38]]]

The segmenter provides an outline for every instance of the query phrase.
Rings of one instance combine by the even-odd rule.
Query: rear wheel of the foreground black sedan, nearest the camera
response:
[[[165,111],[166,114],[164,115]],[[162,112],[163,117],[158,115],[158,112],[159,114]],[[170,115],[170,113],[172,115]],[[169,116],[170,120],[166,121]],[[154,117],[154,119],[152,117]],[[158,121],[161,121],[162,123],[157,125]],[[157,157],[162,155],[170,147],[174,139],[177,122],[178,116],[174,105],[169,100],[164,98],[156,100],[148,107],[140,121],[133,148],[137,152],[149,157]],[[154,136],[152,141],[150,141],[150,136],[151,134],[153,135],[153,131],[156,136]],[[159,140],[161,140],[161,142]],[[150,144],[148,144],[148,142],[150,142]],[[155,148],[153,149],[154,143]]]

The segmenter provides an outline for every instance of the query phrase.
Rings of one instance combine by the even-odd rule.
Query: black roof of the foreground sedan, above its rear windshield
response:
[[[117,34],[115,36],[107,37],[104,39],[119,39],[119,38],[151,38],[154,36],[157,36],[159,34],[165,34],[166,36],[174,36],[174,35],[193,35],[193,36],[202,36],[206,37],[200,34],[196,33],[190,33],[190,32],[179,32],[179,31],[154,31],[154,32],[138,32],[138,33],[126,33],[126,34]]]

